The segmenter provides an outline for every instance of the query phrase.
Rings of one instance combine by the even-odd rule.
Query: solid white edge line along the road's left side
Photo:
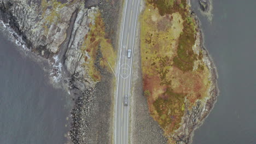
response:
[[[123,17],[122,17],[122,22],[123,22],[123,28],[122,28],[122,33],[121,33],[121,38],[120,38],[120,41],[119,41],[119,44],[120,46],[123,44],[123,34],[124,34],[124,21],[125,21],[125,15],[126,15],[126,9],[127,9],[127,1],[126,0],[126,3],[125,3],[125,10],[123,12]],[[120,47],[119,46],[119,47]],[[122,52],[122,49],[120,49],[120,58],[119,58],[119,65],[118,67],[120,68],[120,62],[121,62],[121,52]],[[117,144],[117,103],[118,103],[118,85],[119,85],[119,71],[118,71],[118,83],[117,83],[117,93],[116,93],[116,99],[115,99],[115,144]]]

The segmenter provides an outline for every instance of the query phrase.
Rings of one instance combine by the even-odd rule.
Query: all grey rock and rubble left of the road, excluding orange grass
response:
[[[111,143],[113,75],[100,66],[102,53],[90,57],[85,40],[96,13],[102,13],[106,36],[115,41],[120,5],[117,0],[0,0],[0,20],[14,39],[49,62],[51,78],[74,100],[67,134],[71,143]],[[92,68],[99,70],[101,81],[92,80]]]

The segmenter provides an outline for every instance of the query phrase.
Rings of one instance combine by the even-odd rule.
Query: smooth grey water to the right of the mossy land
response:
[[[191,2],[216,64],[220,94],[194,144],[256,143],[256,1],[214,0],[209,22]]]

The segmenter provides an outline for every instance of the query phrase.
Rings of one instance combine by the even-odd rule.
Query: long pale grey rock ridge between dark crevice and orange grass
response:
[[[84,66],[85,59],[83,55],[90,57],[82,52],[84,45],[85,35],[89,32],[89,25],[94,23],[94,15],[96,14],[97,8],[92,7],[91,9],[79,9],[77,17],[72,27],[71,37],[68,40],[69,44],[65,52],[65,65],[69,74],[74,75],[77,79],[81,79],[84,82],[90,83],[90,86],[94,86],[93,82],[88,74],[88,70]]]

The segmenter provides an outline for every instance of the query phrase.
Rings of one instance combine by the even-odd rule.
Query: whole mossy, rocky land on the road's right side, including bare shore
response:
[[[154,131],[159,127],[152,120],[145,120],[147,116],[141,115],[145,110],[136,103],[141,99],[135,98],[134,109],[140,110],[133,110],[133,125],[146,121],[150,127],[137,126],[133,141],[143,143],[140,139],[144,137],[144,141],[155,143],[191,143],[194,130],[210,113],[218,95],[217,73],[203,46],[200,22],[190,10],[190,1],[148,0],[142,7],[138,41],[141,63],[137,63],[139,76],[135,76],[142,79],[135,84],[143,88],[135,87],[133,94],[147,98],[146,111],[164,134]],[[136,131],[146,131],[149,136]],[[157,134],[150,135],[150,131]]]

